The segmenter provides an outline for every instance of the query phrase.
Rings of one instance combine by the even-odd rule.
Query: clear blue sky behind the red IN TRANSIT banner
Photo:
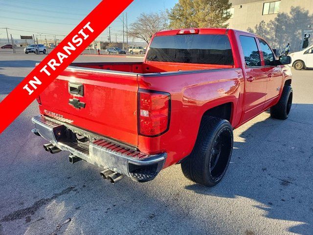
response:
[[[43,38],[46,36],[47,39],[57,35],[57,38],[62,39],[99,2],[100,0],[0,0],[0,38],[6,38],[6,30],[3,28],[7,27],[14,39],[20,39],[20,35],[32,34],[38,35],[38,38],[40,35]],[[124,13],[127,13],[130,25],[141,13],[164,11],[177,2],[178,0],[134,0]],[[115,40],[115,34],[117,41],[123,40],[122,18],[121,14],[110,25],[112,41]],[[107,28],[98,39],[107,41],[108,36]]]

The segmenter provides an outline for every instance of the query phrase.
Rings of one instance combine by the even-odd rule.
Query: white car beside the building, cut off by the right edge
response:
[[[291,57],[289,66],[292,66],[295,70],[313,68],[313,45],[304,50],[293,52],[289,56]]]

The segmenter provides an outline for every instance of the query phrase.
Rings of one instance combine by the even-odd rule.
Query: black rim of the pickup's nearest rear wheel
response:
[[[214,181],[219,181],[226,171],[232,151],[231,130],[222,129],[215,137],[211,148],[209,173]]]

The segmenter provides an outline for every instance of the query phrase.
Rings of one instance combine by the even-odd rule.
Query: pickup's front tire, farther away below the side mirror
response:
[[[292,95],[291,86],[284,86],[283,94],[278,103],[270,108],[270,117],[281,120],[287,119],[292,106]]]

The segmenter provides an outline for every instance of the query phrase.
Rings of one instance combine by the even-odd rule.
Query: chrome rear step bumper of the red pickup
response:
[[[32,122],[35,124],[32,132],[42,136],[59,149],[69,151],[72,155],[91,164],[129,176],[135,181],[153,180],[166,159],[166,153],[147,155],[133,147],[86,130],[80,130],[80,133],[86,137],[91,135],[95,137],[95,140],[89,141],[88,145],[69,141],[68,133],[77,133],[78,128],[53,118],[35,116]]]

